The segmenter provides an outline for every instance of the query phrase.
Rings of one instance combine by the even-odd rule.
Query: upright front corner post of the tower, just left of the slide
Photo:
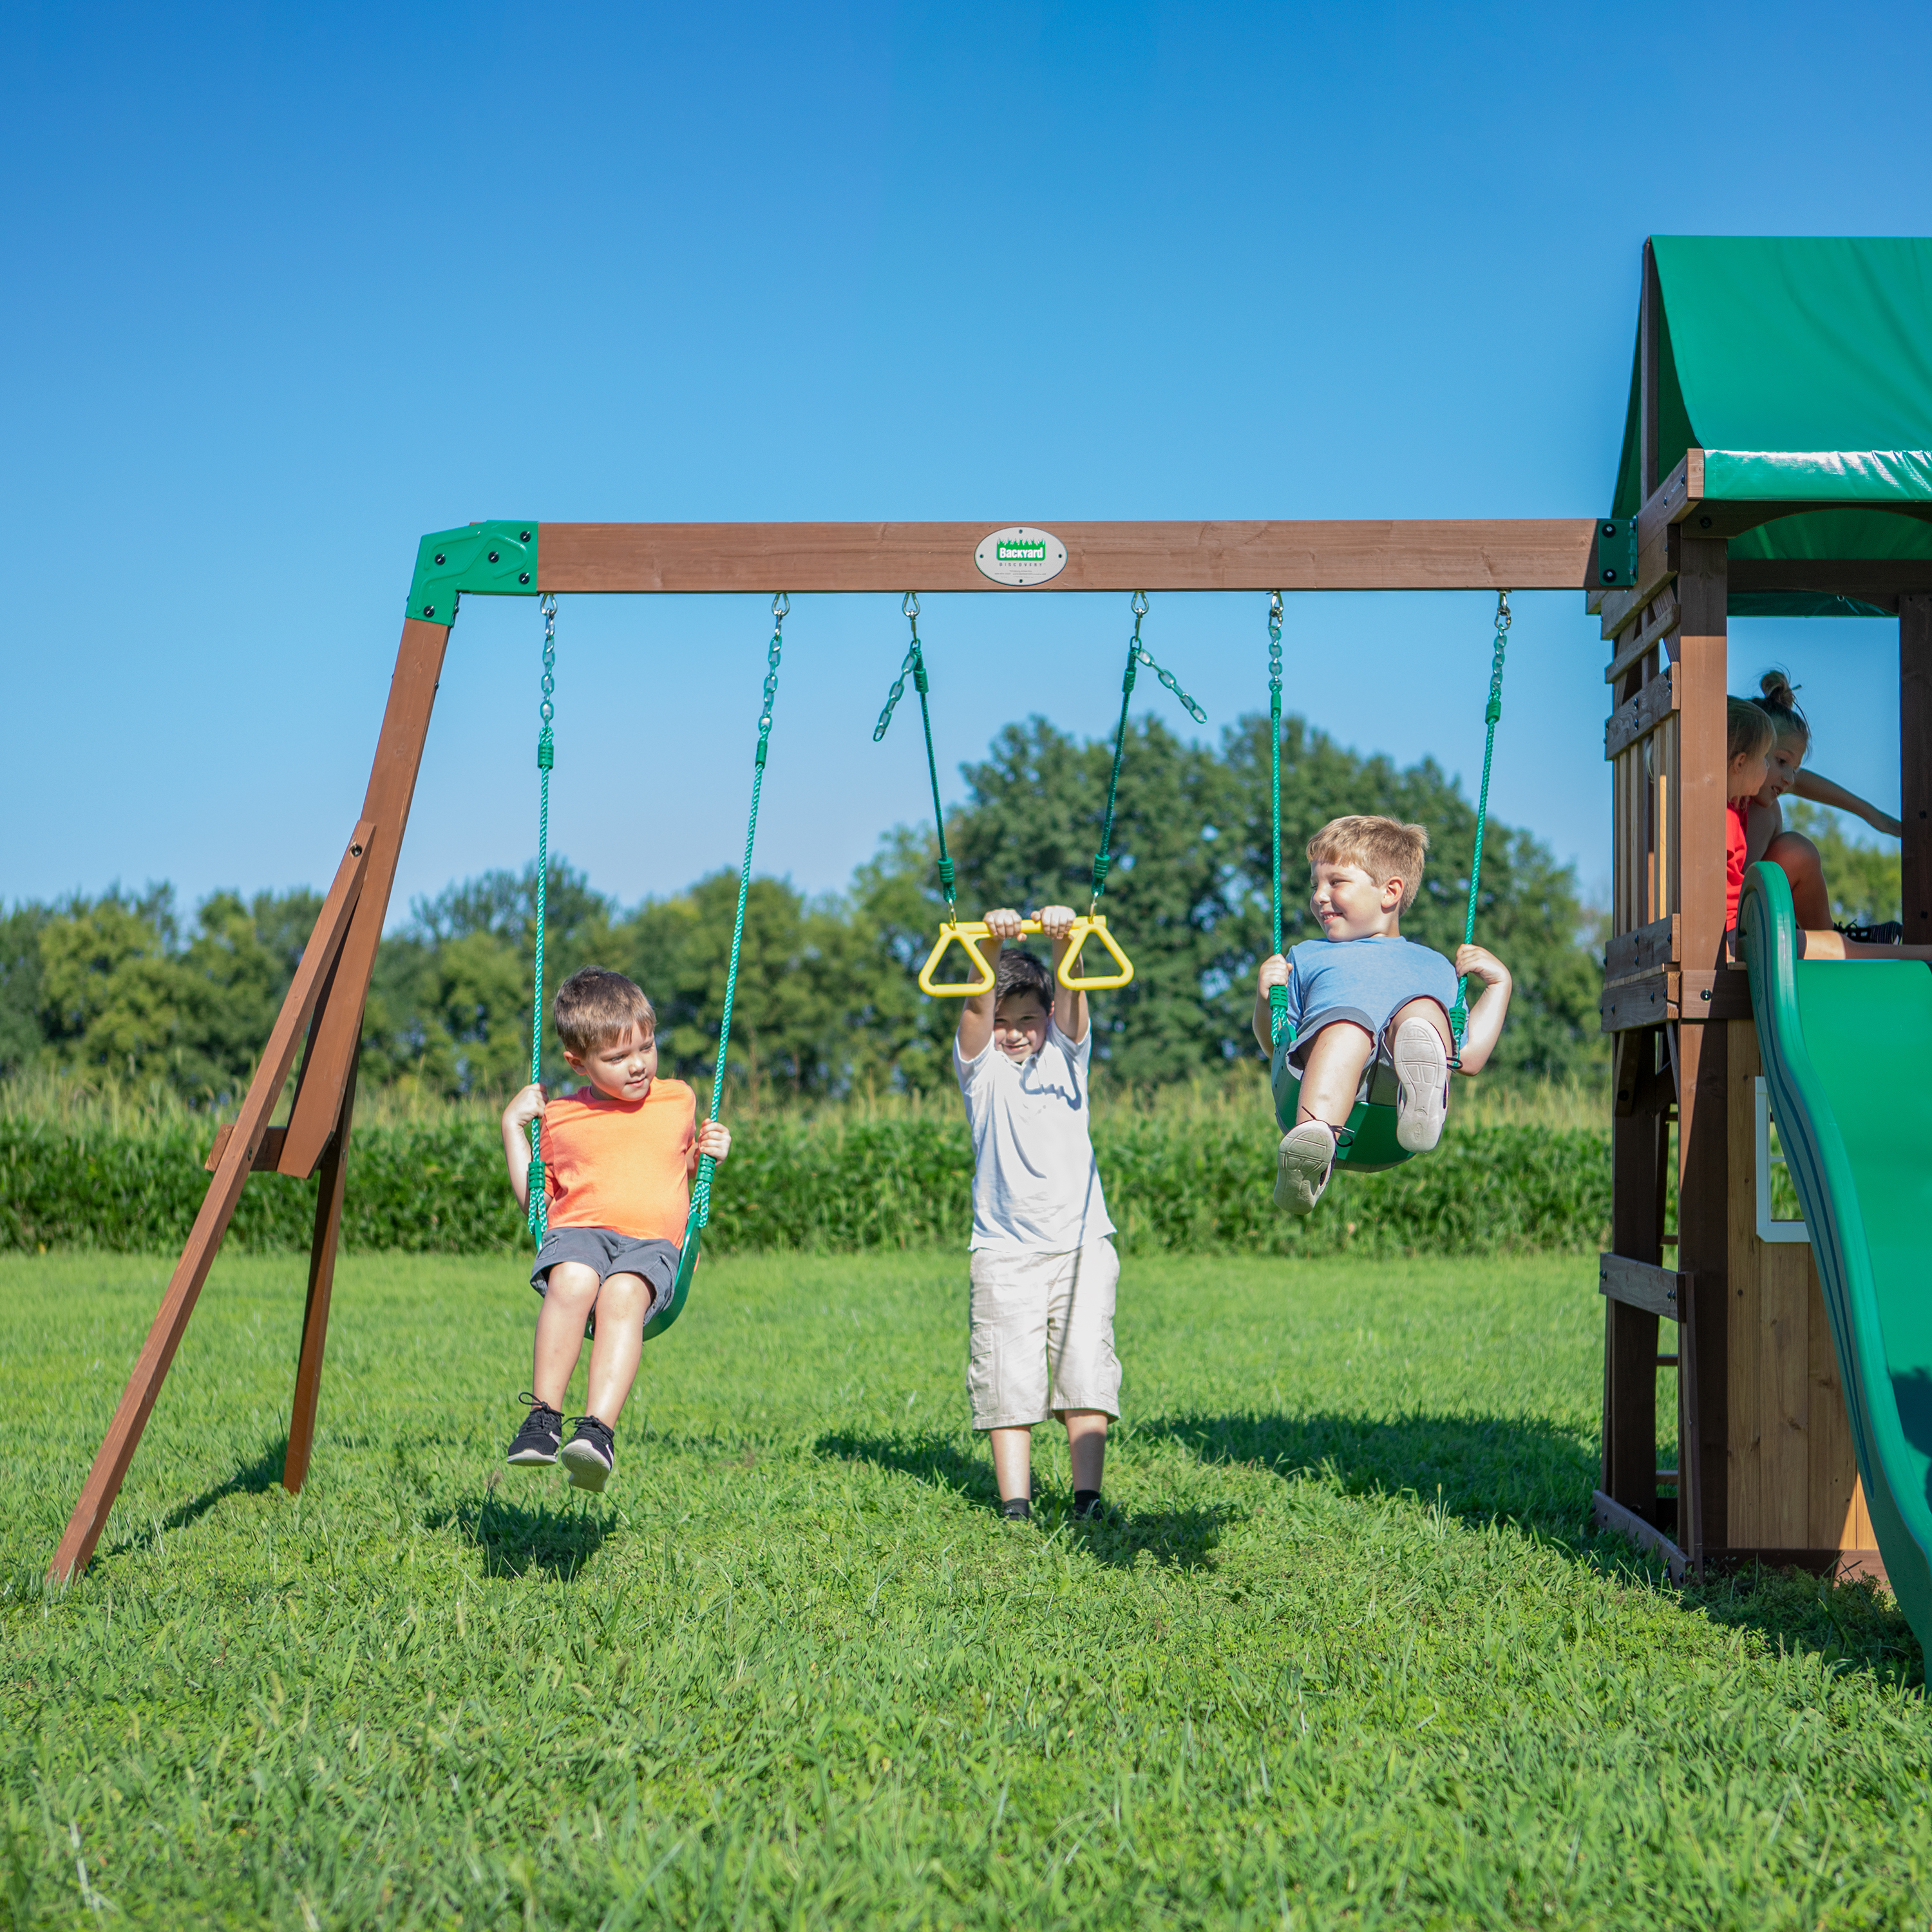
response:
[[[1725,545],[1679,537],[1675,649],[1681,717],[1675,811],[1679,947],[1687,968],[1725,958],[1723,792],[1729,769],[1725,726]],[[1702,1565],[1706,1549],[1727,1544],[1727,1103],[1723,1024],[1685,1016],[1677,1030],[1677,1265],[1696,1281],[1689,1335],[1679,1337],[1685,1422],[1694,1395],[1700,1493],[1683,1497],[1685,1555]],[[1694,1358],[1694,1368],[1692,1368]],[[1679,1455],[1679,1468],[1690,1457]]]

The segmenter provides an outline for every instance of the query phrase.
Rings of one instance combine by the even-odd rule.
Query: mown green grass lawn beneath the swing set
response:
[[[1586,1534],[1590,1260],[1130,1260],[1117,1520],[991,1513],[958,1256],[711,1262],[601,1501],[512,1260],[0,1260],[0,1924],[1924,1926],[1918,1648]]]

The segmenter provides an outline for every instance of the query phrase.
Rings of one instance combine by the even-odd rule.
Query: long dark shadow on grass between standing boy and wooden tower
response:
[[[1343,1490],[1405,1492],[1464,1522],[1497,1517],[1575,1546],[1590,1515],[1596,1457],[1534,1416],[1179,1414],[1138,1422],[1138,1441],[1171,1441],[1202,1463],[1289,1478],[1333,1470]]]

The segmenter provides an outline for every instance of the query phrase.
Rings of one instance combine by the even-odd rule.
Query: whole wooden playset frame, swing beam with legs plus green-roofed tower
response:
[[[1895,473],[1876,475],[1870,464],[1806,468],[1808,458],[1777,452],[1818,454],[1812,444],[1768,442],[1766,431],[1754,442],[1714,437],[1704,417],[1729,421],[1737,412],[1735,398],[1704,410],[1687,379],[1696,361],[1692,342],[1702,340],[1689,294],[1694,261],[1669,257],[1685,292],[1673,298],[1669,315],[1658,261],[1646,243],[1625,462],[1615,514],[1602,520],[1007,529],[491,522],[425,537],[361,813],[240,1117],[216,1140],[201,1211],[50,1575],[70,1580],[85,1569],[255,1171],[319,1180],[282,1468],[290,1492],[303,1484],[315,1441],[363,1003],[458,597],[771,597],[902,593],[908,585],[1016,595],[1588,593],[1611,649],[1604,672],[1611,692],[1605,755],[1615,800],[1613,937],[1602,1003],[1602,1024],[1615,1047],[1615,1121],[1611,1252],[1600,1267],[1605,1378],[1598,1517],[1660,1549],[1673,1567],[1739,1553],[1872,1567],[1876,1551],[1861,1515],[1830,1331],[1816,1306],[1816,1271],[1808,1250],[1760,1240],[1745,1206],[1756,1184],[1748,1146],[1756,1047],[1747,974],[1727,964],[1725,947],[1725,632],[1731,611],[1897,614],[1905,922],[1909,939],[1932,937],[1932,458],[1918,483],[1907,477],[1901,485]],[[1795,267],[1785,267],[1801,282],[1853,272],[1835,259],[1791,261]],[[1723,309],[1721,296],[1710,296],[1710,303],[1721,313],[1704,334],[1716,328],[1719,346],[1735,350],[1748,338],[1750,315],[1735,301]],[[1735,369],[1737,361],[1733,354],[1723,367]],[[1764,369],[1758,386],[1766,394],[1789,388],[1789,373]],[[1932,444],[1932,431],[1922,440]],[[1774,456],[1756,462],[1766,450]],[[1920,497],[1909,500],[1913,489]],[[1861,529],[1843,522],[1855,504],[1872,512]],[[1864,527],[1872,524],[1905,526],[1907,541],[1874,543]],[[1789,531],[1791,541],[1777,541],[1779,531]],[[999,560],[1007,549],[1018,560],[1012,568]],[[1005,576],[997,574],[1003,568]],[[288,1122],[270,1126],[298,1055]],[[1673,1192],[1675,1236],[1665,1227]],[[1665,1265],[1667,1248],[1673,1265]],[[1677,1349],[1662,1354],[1660,1320],[1673,1321],[1679,1337]],[[1662,1470],[1660,1370],[1677,1372],[1679,1410],[1677,1468]]]

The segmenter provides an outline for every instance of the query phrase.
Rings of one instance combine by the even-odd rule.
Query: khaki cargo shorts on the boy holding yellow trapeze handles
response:
[[[976,1430],[1016,1430],[1068,1408],[1121,1414],[1111,1240],[1063,1254],[974,1250],[966,1393]]]

